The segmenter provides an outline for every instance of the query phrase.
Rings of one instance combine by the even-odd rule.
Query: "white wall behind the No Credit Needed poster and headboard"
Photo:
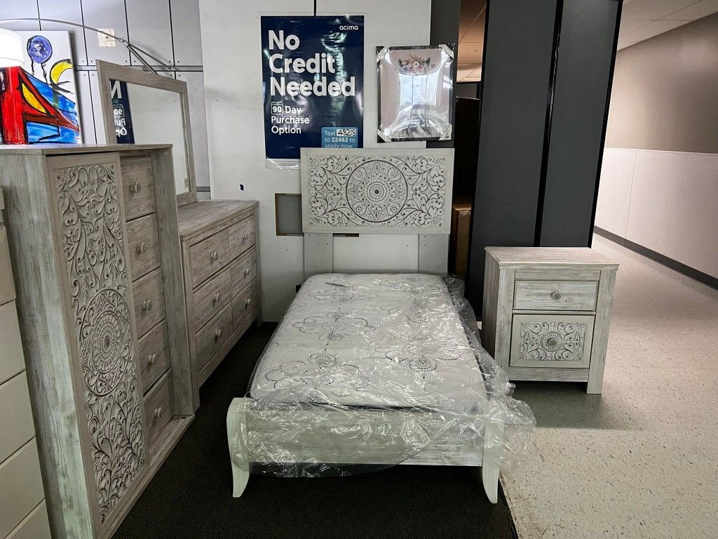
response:
[[[262,308],[269,321],[281,318],[302,283],[304,254],[301,236],[276,236],[274,193],[299,193],[299,171],[265,167],[260,16],[313,11],[313,0],[200,0],[212,195],[259,201]],[[364,146],[376,147],[375,47],[429,44],[431,0],[317,0],[317,14],[364,15]]]

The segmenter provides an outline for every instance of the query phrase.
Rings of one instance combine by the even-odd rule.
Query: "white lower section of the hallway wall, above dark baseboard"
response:
[[[596,226],[718,277],[718,154],[606,148]]]

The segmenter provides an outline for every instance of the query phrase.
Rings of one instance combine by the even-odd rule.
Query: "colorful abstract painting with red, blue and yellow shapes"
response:
[[[0,69],[0,144],[79,144],[80,109],[68,32],[19,32],[25,63]]]

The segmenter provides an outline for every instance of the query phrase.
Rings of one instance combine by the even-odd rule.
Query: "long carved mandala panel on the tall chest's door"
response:
[[[116,165],[56,170],[90,456],[102,522],[144,465]]]

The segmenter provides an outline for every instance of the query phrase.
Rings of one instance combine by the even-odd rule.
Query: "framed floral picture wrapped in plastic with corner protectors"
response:
[[[376,47],[378,142],[449,140],[454,45]]]

